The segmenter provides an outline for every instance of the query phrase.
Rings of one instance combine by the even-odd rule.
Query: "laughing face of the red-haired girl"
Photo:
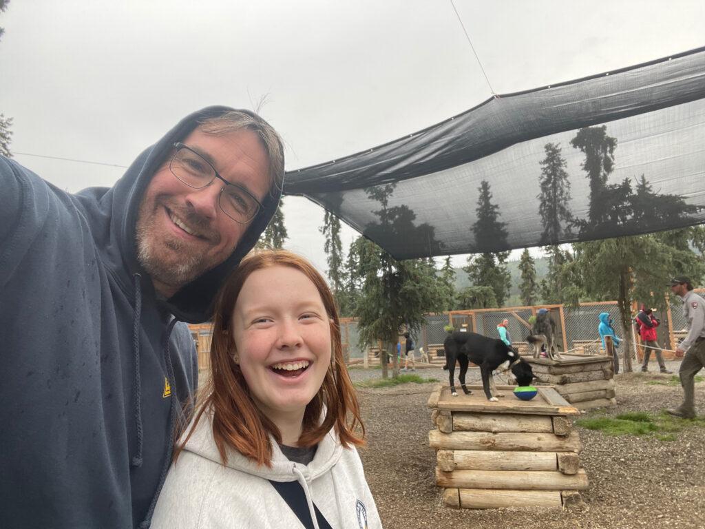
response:
[[[233,310],[233,355],[252,400],[283,437],[298,439],[331,364],[331,320],[305,274],[275,265],[247,277]]]

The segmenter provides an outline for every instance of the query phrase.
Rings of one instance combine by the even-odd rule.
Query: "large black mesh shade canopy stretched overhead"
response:
[[[705,48],[492,97],[343,159],[284,192],[397,259],[705,223]]]

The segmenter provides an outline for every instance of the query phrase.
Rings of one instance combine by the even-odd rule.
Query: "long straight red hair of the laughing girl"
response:
[[[238,300],[247,277],[255,270],[274,266],[291,267],[305,274],[316,286],[331,319],[331,367],[326,372],[321,389],[306,406],[298,444],[313,446],[320,442],[331,428],[335,428],[345,448],[363,444],[364,425],[360,418],[355,389],[343,359],[341,327],[333,294],[321,274],[303,257],[285,250],[263,250],[247,255],[240,262],[216,298],[211,345],[211,379],[188,434],[174,452],[175,460],[198,422],[202,420],[204,412],[209,411],[212,413],[213,437],[223,465],[228,461],[227,447],[231,446],[258,464],[270,466],[272,447],[269,434],[273,435],[278,443],[281,443],[281,434],[274,423],[255,406],[240,366],[233,360],[231,321],[235,301]],[[325,416],[321,421],[323,411]],[[362,430],[360,437],[353,434],[357,425]]]

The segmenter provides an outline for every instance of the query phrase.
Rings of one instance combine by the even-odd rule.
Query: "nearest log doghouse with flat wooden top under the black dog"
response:
[[[465,509],[508,506],[561,507],[580,503],[587,475],[580,467],[580,438],[570,416],[580,412],[549,387],[520,401],[499,386],[498,402],[482,387],[450,396],[440,386],[429,399],[436,429],[436,485],[443,504]]]

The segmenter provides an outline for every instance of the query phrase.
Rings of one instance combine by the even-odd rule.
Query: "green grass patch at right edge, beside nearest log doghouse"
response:
[[[644,412],[629,412],[615,418],[594,415],[578,419],[575,424],[588,430],[600,430],[605,435],[652,435],[661,441],[675,441],[675,433],[687,427],[705,427],[705,416],[694,419],[679,419],[665,411],[659,415]]]

